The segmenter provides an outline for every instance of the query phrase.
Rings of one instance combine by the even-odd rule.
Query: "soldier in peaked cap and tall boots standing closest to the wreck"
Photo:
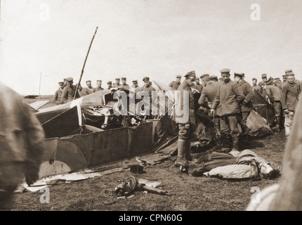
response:
[[[174,115],[173,115],[173,120],[176,121],[178,124],[178,143],[177,143],[177,148],[178,148],[178,155],[176,162],[174,165],[176,167],[180,166],[185,166],[188,164],[188,161],[192,160],[192,156],[190,153],[190,148],[191,148],[191,136],[193,133],[193,126],[196,124],[195,120],[195,101],[194,101],[194,96],[192,93],[191,86],[194,84],[196,79],[195,71],[188,72],[185,75],[185,80],[178,86],[177,91],[180,91],[180,96],[183,96],[183,91],[188,91],[189,94],[189,99],[188,101],[185,101],[183,98],[180,97],[180,108],[185,108],[185,104],[187,105],[188,111],[185,113],[183,112],[178,112],[178,108],[174,110]],[[178,118],[179,115],[186,115],[188,116],[188,120],[185,121],[186,116]]]

